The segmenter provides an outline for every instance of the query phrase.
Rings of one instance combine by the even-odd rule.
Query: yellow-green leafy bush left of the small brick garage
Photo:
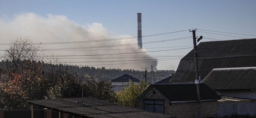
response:
[[[124,85],[122,91],[116,92],[116,100],[119,101],[117,104],[127,107],[139,107],[140,103],[136,100],[136,98],[138,98],[140,94],[148,88],[149,85],[150,83],[147,83],[145,80],[140,80],[138,85],[131,81],[131,85],[129,85],[128,88],[126,88],[126,85]]]

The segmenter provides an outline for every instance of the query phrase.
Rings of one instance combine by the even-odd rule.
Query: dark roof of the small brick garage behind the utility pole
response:
[[[197,101],[195,83],[152,84],[138,98],[139,100],[150,88],[155,87],[170,102]],[[204,83],[200,83],[201,100],[218,100],[221,97]]]

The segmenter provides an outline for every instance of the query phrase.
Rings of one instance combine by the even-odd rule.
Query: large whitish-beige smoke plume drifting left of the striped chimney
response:
[[[34,13],[23,13],[15,15],[11,20],[4,20],[0,18],[0,39],[1,43],[9,43],[9,40],[17,39],[18,37],[28,37],[32,39],[33,43],[49,43],[49,42],[71,42],[71,41],[94,41],[131,37],[129,35],[112,36],[100,23],[92,23],[90,25],[81,26],[73,21],[70,21],[63,15],[47,14],[47,17],[42,17]],[[136,29],[136,28],[135,28]],[[78,47],[95,47],[95,46],[110,46],[110,45],[123,45],[137,43],[135,39],[125,39],[116,41],[101,41],[101,42],[87,42],[87,43],[74,43],[74,44],[52,44],[41,45],[44,49],[52,48],[78,48]],[[1,46],[1,49],[7,48]],[[116,49],[132,49],[132,50],[116,50]],[[146,49],[136,49],[137,45],[118,46],[108,48],[88,48],[78,49],[79,51],[44,51],[45,55],[59,55],[62,62],[71,62],[75,65],[89,65],[93,67],[106,67],[120,68],[120,69],[135,69],[144,70],[139,68],[151,67],[156,69],[157,60],[149,56],[148,53],[134,53],[144,52]],[[98,50],[96,50],[98,49]],[[99,50],[102,49],[102,50]],[[112,50],[109,50],[112,49]],[[113,50],[114,49],[114,50]],[[69,49],[70,50],[70,49]],[[83,50],[83,51],[82,51]],[[88,51],[90,50],[90,51]],[[1,51],[1,54],[4,52]],[[101,54],[117,54],[117,53],[133,53],[121,55],[108,55]],[[61,57],[60,55],[101,55],[101,56],[71,56]],[[123,56],[128,56],[124,58]],[[133,56],[133,58],[130,58]],[[149,56],[148,58],[141,58],[141,56]],[[95,58],[97,57],[97,58]],[[108,58],[105,58],[108,57]],[[90,59],[89,59],[90,58]],[[143,60],[146,61],[127,61],[127,60]],[[96,63],[94,63],[94,62]],[[116,61],[116,62],[99,62],[99,61]],[[152,62],[155,61],[155,62]],[[77,62],[77,63],[76,63]],[[90,62],[90,63],[89,63]],[[148,63],[136,63],[148,62]],[[115,64],[115,63],[129,63],[129,64]],[[113,65],[101,65],[113,64]]]

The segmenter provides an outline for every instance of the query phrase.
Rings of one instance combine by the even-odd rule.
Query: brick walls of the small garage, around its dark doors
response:
[[[153,91],[156,93],[154,94]],[[140,109],[144,109],[143,99],[164,100],[164,114],[176,116],[177,118],[195,118],[198,117],[198,103],[197,102],[184,102],[172,103],[167,100],[158,90],[154,87],[150,88],[139,100]],[[203,101],[202,102],[203,117],[217,117],[218,105],[216,101]]]

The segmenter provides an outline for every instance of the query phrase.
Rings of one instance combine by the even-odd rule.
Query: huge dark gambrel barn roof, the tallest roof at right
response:
[[[199,76],[203,80],[214,68],[255,67],[256,39],[201,42],[197,45]],[[171,82],[196,78],[194,51],[180,60]]]

